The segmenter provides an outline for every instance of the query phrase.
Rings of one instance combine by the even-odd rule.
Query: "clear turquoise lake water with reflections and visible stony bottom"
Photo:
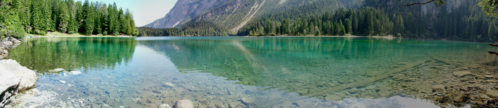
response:
[[[452,71],[494,67],[487,51],[485,43],[398,38],[73,37],[29,38],[9,56],[40,74],[38,95],[20,106],[154,108],[189,99],[200,108],[430,108],[441,103],[430,94],[460,94],[450,88],[466,84],[453,84]],[[453,86],[429,90],[440,84]]]

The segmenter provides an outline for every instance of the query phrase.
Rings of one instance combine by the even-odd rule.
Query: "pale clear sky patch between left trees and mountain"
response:
[[[84,0],[74,0],[82,1]],[[89,0],[92,2],[99,1],[107,4],[116,2],[118,7],[128,8],[133,12],[136,26],[143,26],[150,22],[164,17],[169,12],[177,0]]]

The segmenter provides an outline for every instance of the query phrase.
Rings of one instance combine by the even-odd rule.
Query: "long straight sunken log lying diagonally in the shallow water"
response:
[[[429,59],[424,59],[424,60],[420,60],[420,61],[417,61],[417,62],[409,63],[409,64],[406,64],[404,66],[395,68],[395,69],[393,69],[393,70],[391,70],[389,72],[377,75],[377,76],[372,77],[372,78],[367,78],[367,79],[362,80],[362,81],[358,81],[358,82],[353,82],[353,83],[350,83],[350,84],[341,85],[341,86],[335,87],[335,88],[323,89],[323,90],[320,90],[321,92],[315,92],[315,93],[311,93],[311,94],[303,94],[303,96],[307,96],[307,97],[297,97],[297,98],[291,98],[291,99],[268,101],[266,103],[260,103],[260,104],[258,104],[257,107],[267,108],[267,107],[271,107],[271,105],[283,103],[285,101],[298,101],[298,100],[303,100],[303,99],[306,99],[306,98],[309,98],[309,97],[318,97],[318,96],[322,96],[324,94],[332,94],[332,93],[336,93],[336,92],[339,92],[339,91],[342,91],[342,90],[346,90],[346,89],[365,87],[365,86],[368,86],[369,84],[372,84],[372,83],[374,83],[376,81],[379,81],[379,80],[382,80],[382,79],[385,79],[385,78],[389,78],[389,76],[391,74],[396,74],[396,73],[403,72],[403,71],[406,71],[408,69],[411,69],[413,67],[420,66],[421,64],[426,63],[428,60]]]

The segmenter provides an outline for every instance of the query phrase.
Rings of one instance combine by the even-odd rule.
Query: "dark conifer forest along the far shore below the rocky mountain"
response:
[[[344,3],[344,7],[320,10],[327,0],[302,5],[298,8],[261,15],[249,21],[237,32],[183,27],[154,29],[140,28],[141,36],[393,36],[405,38],[446,39],[492,42],[498,40],[498,22],[479,6],[479,0],[463,0],[458,8],[436,5],[438,12],[423,12],[422,5],[406,4],[411,0],[366,0]],[[426,8],[426,7],[425,7]],[[493,12],[491,12],[493,13]],[[207,23],[207,22],[203,22]],[[200,23],[187,23],[200,24]],[[185,25],[186,26],[186,25]],[[218,27],[215,25],[210,28]],[[230,29],[230,28],[221,28]],[[221,31],[221,32],[220,32]],[[146,32],[146,33],[145,33]],[[188,33],[187,33],[188,32]],[[156,35],[157,34],[157,35]]]

